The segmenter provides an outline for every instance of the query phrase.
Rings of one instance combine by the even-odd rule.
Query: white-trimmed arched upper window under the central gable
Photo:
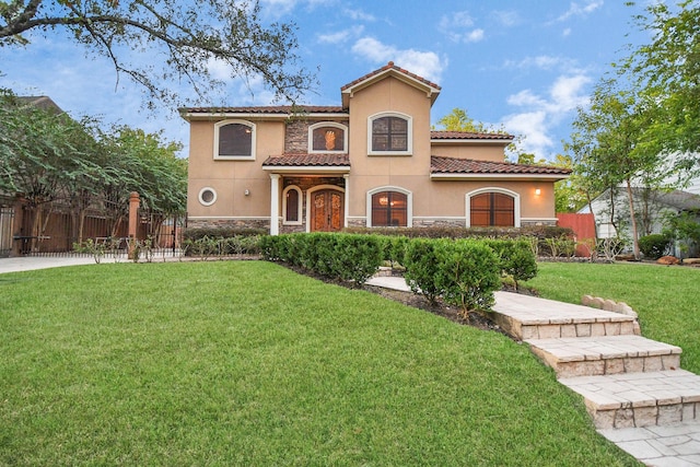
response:
[[[411,154],[412,121],[402,114],[378,114],[369,121],[370,154]]]

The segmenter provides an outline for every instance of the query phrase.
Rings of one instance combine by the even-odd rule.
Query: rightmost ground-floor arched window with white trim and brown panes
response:
[[[467,194],[468,227],[520,227],[521,198],[504,188],[481,188]]]

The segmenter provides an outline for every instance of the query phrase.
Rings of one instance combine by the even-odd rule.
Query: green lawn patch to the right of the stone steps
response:
[[[629,304],[642,335],[682,349],[680,366],[700,374],[700,269],[646,264],[541,262],[526,282],[541,296],[581,303],[582,295]]]

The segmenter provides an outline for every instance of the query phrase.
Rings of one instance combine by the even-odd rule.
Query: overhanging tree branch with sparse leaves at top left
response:
[[[186,82],[203,100],[224,89],[221,67],[294,102],[315,84],[298,63],[295,28],[264,24],[257,1],[0,0],[0,46],[62,30],[86,52],[108,58],[117,81],[126,74],[168,104],[178,96],[163,83]]]

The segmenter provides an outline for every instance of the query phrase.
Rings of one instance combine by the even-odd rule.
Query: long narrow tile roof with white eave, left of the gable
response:
[[[348,115],[348,109],[337,105],[268,105],[247,107],[180,107],[180,115],[185,119],[197,117],[281,117],[289,118],[304,115]]]

